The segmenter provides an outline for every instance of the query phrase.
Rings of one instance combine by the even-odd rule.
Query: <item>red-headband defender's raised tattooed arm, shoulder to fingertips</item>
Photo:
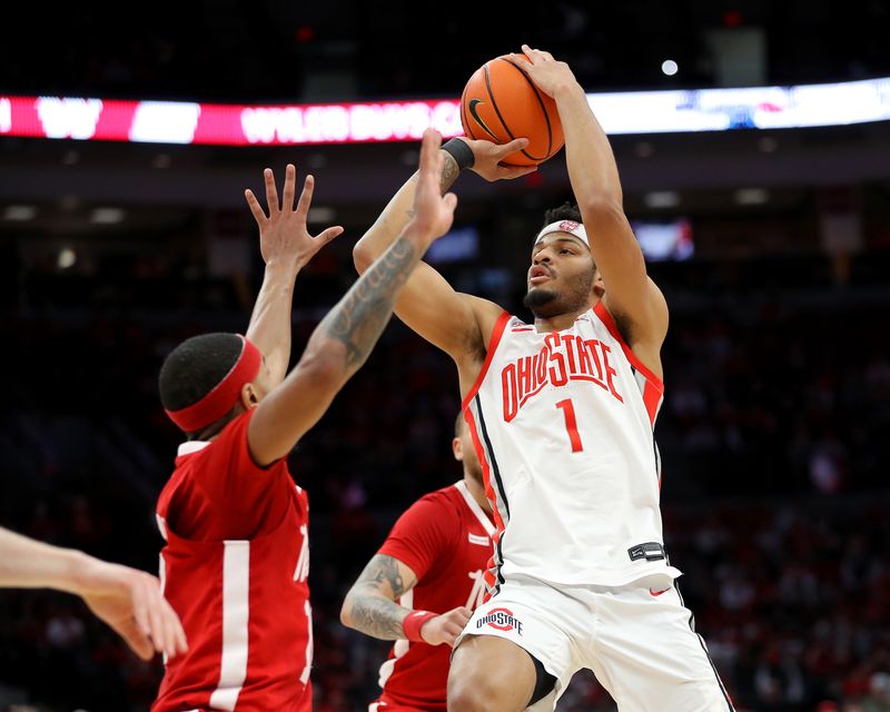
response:
[[[439,195],[439,142],[435,131],[424,134],[414,215],[398,239],[327,314],[299,363],[257,406],[247,442],[258,465],[285,457],[325,414],[377,343],[412,269],[433,240],[451,228],[457,198]]]

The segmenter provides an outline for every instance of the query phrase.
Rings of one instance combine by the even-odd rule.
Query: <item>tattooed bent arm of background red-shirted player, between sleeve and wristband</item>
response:
[[[395,603],[414,586],[406,584],[398,572],[398,562],[392,556],[377,554],[365,566],[350,593],[353,627],[385,641],[404,636],[402,621],[405,609]]]

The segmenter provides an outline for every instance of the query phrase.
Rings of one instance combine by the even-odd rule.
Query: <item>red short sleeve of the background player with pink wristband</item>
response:
[[[419,581],[444,554],[454,553],[461,521],[454,505],[438,494],[415,502],[393,525],[389,536],[377,551],[408,565]]]

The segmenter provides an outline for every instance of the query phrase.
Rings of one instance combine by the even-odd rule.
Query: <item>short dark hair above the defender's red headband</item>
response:
[[[226,377],[241,349],[237,334],[201,334],[182,342],[160,368],[158,387],[164,409],[195,405]]]

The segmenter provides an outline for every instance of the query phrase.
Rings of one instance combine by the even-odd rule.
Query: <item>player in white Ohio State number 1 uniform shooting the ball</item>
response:
[[[668,306],[584,90],[565,62],[523,51],[556,102],[577,202],[548,211],[530,239],[534,323],[455,291],[424,263],[396,303],[457,365],[497,524],[490,597],[456,643],[448,709],[551,709],[589,668],[622,712],[732,711],[663,545],[653,427]],[[464,168],[487,180],[525,175],[498,165],[524,146],[453,139],[441,188]],[[359,240],[359,270],[409,219],[415,181]]]

